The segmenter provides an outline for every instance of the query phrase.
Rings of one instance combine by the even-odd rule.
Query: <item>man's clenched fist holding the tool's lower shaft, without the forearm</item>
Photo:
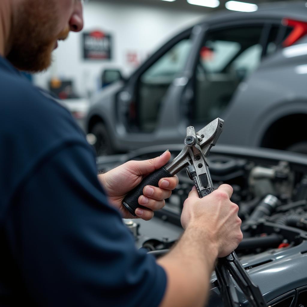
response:
[[[230,185],[221,185],[208,196],[199,198],[195,187],[185,200],[181,224],[204,229],[208,237],[216,244],[218,257],[229,255],[241,242],[241,220],[237,213],[238,205],[230,201]]]

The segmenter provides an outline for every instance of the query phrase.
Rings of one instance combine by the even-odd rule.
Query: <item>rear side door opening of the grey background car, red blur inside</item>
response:
[[[221,116],[239,83],[258,67],[262,28],[245,26],[208,33],[195,73],[195,122]]]

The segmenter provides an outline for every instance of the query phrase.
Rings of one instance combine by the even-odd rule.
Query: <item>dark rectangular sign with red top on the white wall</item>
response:
[[[87,60],[110,60],[111,35],[102,31],[83,33],[83,57]]]

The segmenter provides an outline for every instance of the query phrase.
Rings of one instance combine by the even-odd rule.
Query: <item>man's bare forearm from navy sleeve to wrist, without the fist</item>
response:
[[[169,254],[158,259],[168,276],[162,307],[204,305],[218,255],[218,244],[207,232],[204,225],[189,223]]]

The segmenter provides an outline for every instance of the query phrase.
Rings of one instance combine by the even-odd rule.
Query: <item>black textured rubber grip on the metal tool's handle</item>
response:
[[[137,187],[135,187],[126,195],[125,199],[122,202],[123,206],[133,216],[136,216],[136,214],[134,213],[135,209],[139,207],[144,208],[143,206],[138,204],[138,198],[143,195],[143,188],[146,185],[153,185],[155,187],[158,187],[159,180],[165,177],[173,177],[173,175],[170,174],[164,167],[161,167],[161,169],[157,169],[155,172],[145,177]]]

